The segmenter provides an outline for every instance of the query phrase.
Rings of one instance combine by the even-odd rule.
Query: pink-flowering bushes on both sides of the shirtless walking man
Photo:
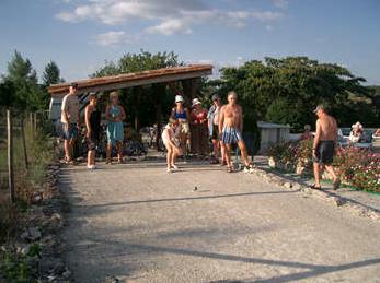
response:
[[[283,165],[290,164],[287,168],[312,167],[312,141],[309,140],[297,144],[281,142],[272,145],[267,154]],[[380,154],[354,146],[339,148],[334,157],[334,166],[346,184],[361,190],[380,192]]]

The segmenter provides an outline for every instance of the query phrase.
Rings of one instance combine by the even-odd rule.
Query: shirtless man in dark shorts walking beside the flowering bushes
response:
[[[316,106],[314,113],[318,116],[318,120],[313,142],[313,167],[315,184],[312,186],[312,188],[321,189],[320,170],[324,167],[333,176],[334,189],[337,189],[341,185],[341,180],[332,166],[334,152],[337,150],[336,120],[326,113],[326,108],[323,105]]]

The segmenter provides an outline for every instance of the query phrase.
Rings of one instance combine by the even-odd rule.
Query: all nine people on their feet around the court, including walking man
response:
[[[69,94],[62,99],[61,123],[65,139],[65,160],[72,163],[72,146],[79,135],[80,129],[80,107],[77,96],[78,84],[70,85]],[[228,103],[222,105],[220,97],[212,95],[212,105],[207,111],[201,107],[198,98],[192,101],[192,110],[184,106],[184,98],[175,96],[175,107],[173,107],[169,123],[162,131],[162,141],[166,148],[166,170],[171,173],[179,169],[175,164],[176,157],[183,154],[188,148],[191,152],[200,156],[208,154],[208,141],[212,142],[211,163],[227,165],[227,172],[233,172],[231,162],[231,144],[237,144],[241,151],[244,163],[244,172],[250,172],[253,164],[250,163],[247,151],[243,141],[243,113],[238,104],[238,95],[231,91],[228,93]],[[84,122],[88,141],[88,168],[95,168],[95,149],[100,140],[101,113],[97,110],[97,96],[92,93],[89,96],[89,104],[84,110]],[[334,188],[339,186],[339,178],[336,175],[332,163],[334,153],[337,150],[337,123],[327,114],[323,105],[319,105],[315,110],[318,116],[316,131],[313,139],[313,164],[315,184],[313,188],[321,188],[321,169],[326,169],[334,179]],[[110,104],[105,110],[107,121],[107,149],[106,163],[112,163],[112,149],[117,151],[118,163],[123,162],[122,145],[124,140],[123,121],[126,113],[119,104],[117,92],[110,94]],[[302,139],[310,139],[310,126],[306,128]]]

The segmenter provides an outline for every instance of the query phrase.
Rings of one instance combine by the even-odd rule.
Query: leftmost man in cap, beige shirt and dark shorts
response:
[[[64,148],[65,160],[72,163],[71,151],[74,141],[78,138],[78,129],[80,128],[79,99],[77,96],[78,84],[71,83],[69,93],[65,95],[61,106],[61,118],[64,128]]]

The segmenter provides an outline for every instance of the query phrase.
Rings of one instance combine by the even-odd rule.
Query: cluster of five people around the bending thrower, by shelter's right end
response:
[[[231,91],[228,93],[228,104],[222,105],[220,97],[215,94],[212,106],[207,111],[201,107],[200,101],[194,98],[189,111],[184,106],[182,95],[175,96],[175,107],[162,132],[162,141],[168,151],[168,173],[177,169],[175,160],[188,146],[192,153],[206,156],[209,152],[209,139],[212,142],[212,164],[227,165],[227,172],[233,172],[230,151],[231,144],[237,144],[244,162],[244,172],[253,168],[242,137],[243,113],[237,99],[237,93]]]

